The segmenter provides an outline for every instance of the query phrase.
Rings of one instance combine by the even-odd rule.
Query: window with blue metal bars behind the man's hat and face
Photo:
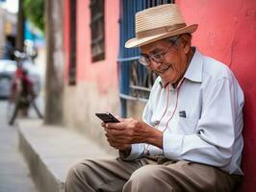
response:
[[[174,0],[122,0],[120,5],[120,44],[119,44],[119,96],[121,116],[126,116],[126,101],[146,102],[151,86],[157,75],[139,62],[138,48],[126,49],[124,43],[135,36],[135,13],[158,5],[174,3]]]

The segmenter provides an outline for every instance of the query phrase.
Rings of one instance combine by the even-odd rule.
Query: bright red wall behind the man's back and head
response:
[[[225,62],[242,85],[244,106],[243,191],[256,191],[256,1],[176,0],[187,23],[198,23],[193,44]]]

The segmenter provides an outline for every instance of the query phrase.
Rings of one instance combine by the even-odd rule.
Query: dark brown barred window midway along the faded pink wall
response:
[[[90,0],[92,62],[105,59],[104,0]]]

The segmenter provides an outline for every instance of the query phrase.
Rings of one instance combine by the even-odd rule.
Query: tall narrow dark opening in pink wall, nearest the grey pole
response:
[[[69,0],[69,72],[68,83],[76,84],[76,0]]]

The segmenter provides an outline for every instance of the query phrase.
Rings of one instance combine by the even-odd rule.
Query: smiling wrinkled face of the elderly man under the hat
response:
[[[186,54],[188,54],[189,49],[190,46],[184,42],[182,37],[174,44],[161,39],[141,46],[141,56],[150,58],[147,67],[155,71],[162,78],[164,84],[178,84],[187,70]],[[151,59],[158,54],[163,55],[163,60]]]

